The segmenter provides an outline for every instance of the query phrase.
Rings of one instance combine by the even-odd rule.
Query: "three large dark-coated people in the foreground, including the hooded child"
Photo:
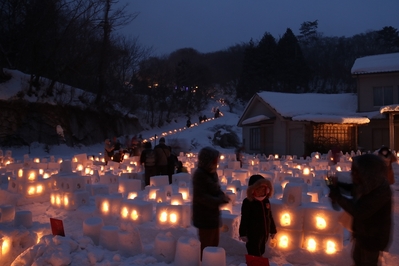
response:
[[[382,251],[389,248],[392,238],[392,161],[396,161],[387,148],[380,155],[363,154],[353,157],[352,183],[338,180],[330,186],[329,197],[352,216],[355,266],[378,265]],[[393,159],[392,157],[395,157]],[[217,176],[219,152],[211,147],[201,149],[198,168],[193,174],[192,219],[198,229],[202,252],[207,246],[219,245],[221,225],[220,206],[230,201],[221,190]],[[344,190],[351,197],[343,196]],[[249,178],[247,195],[241,205],[240,239],[249,255],[262,257],[268,238],[277,234],[269,198],[273,185],[261,175]]]

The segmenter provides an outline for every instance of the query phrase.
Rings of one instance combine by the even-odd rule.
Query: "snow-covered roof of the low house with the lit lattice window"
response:
[[[296,94],[264,91],[258,93],[258,96],[281,116],[295,121],[367,124],[370,116],[375,115],[357,113],[357,95],[353,93]]]

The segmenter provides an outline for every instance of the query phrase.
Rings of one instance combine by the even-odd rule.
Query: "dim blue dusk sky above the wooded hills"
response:
[[[318,20],[324,36],[346,36],[399,29],[399,0],[120,0],[138,17],[121,30],[138,36],[157,55],[191,47],[207,53],[259,40],[276,39],[287,28],[299,34],[301,23]]]

